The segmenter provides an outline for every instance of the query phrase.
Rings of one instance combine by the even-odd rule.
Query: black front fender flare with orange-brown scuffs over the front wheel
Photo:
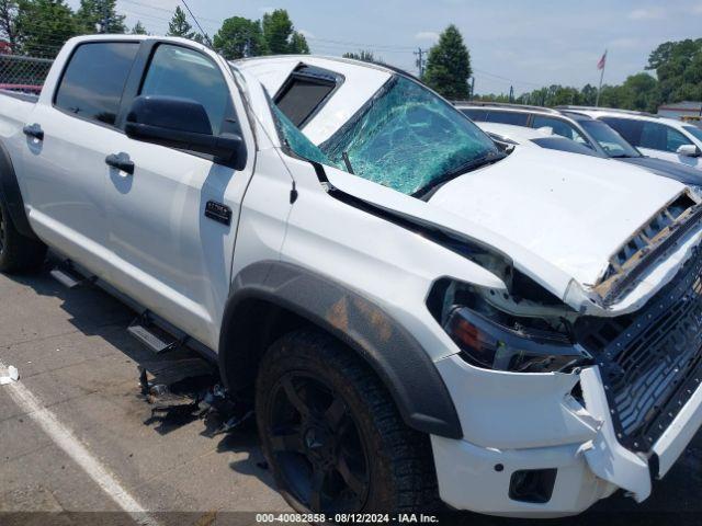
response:
[[[358,291],[291,263],[253,263],[233,281],[219,338],[219,369],[225,386],[233,388],[246,380],[236,378],[237,369],[241,376],[250,373],[242,356],[245,345],[237,342],[248,328],[237,329],[236,320],[246,319],[251,299],[291,311],[355,351],[378,375],[410,427],[450,438],[463,436],[449,390],[417,340]]]

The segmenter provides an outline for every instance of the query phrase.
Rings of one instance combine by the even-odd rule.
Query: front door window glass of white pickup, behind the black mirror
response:
[[[139,94],[178,96],[201,103],[214,135],[219,135],[230,108],[229,88],[217,65],[201,53],[169,44],[156,48]]]

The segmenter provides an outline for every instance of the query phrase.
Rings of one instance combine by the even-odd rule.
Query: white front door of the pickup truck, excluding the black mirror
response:
[[[131,139],[104,145],[128,156],[133,173],[105,175],[109,241],[115,283],[141,305],[216,348],[229,293],[239,206],[252,173],[254,146],[226,62],[200,47],[147,42],[144,67],[129,79],[132,95],[163,95],[201,103],[213,133],[241,134],[249,152],[237,171],[212,157]],[[225,75],[226,73],[226,75]],[[126,96],[126,95],[125,95]],[[228,219],[205,215],[207,204]]]

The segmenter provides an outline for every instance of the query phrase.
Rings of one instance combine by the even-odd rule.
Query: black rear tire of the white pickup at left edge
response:
[[[18,232],[7,205],[0,199],[0,272],[36,272],[45,259],[46,245]]]

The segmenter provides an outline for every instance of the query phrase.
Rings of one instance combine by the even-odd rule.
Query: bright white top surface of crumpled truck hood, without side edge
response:
[[[603,159],[517,148],[441,187],[430,204],[595,284],[618,249],[683,186]]]

